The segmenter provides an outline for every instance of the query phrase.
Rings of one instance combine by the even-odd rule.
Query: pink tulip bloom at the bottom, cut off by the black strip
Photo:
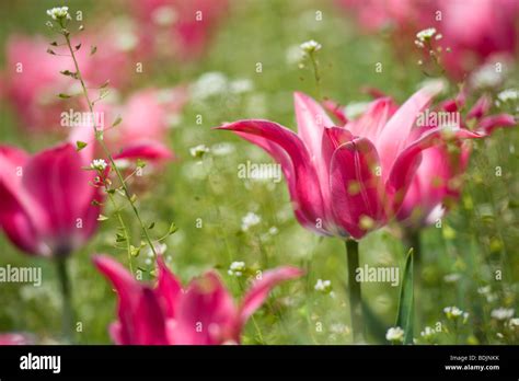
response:
[[[302,275],[295,267],[265,272],[237,307],[214,272],[193,279],[183,289],[159,256],[158,282],[151,288],[111,257],[96,256],[94,263],[118,295],[118,321],[111,325],[109,333],[120,345],[238,344],[246,321],[270,289]]]

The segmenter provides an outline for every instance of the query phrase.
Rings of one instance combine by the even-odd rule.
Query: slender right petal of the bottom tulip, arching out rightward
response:
[[[249,318],[262,307],[274,287],[286,280],[299,278],[303,274],[303,270],[291,266],[278,267],[262,274],[262,278],[254,281],[243,298],[239,311],[241,324],[244,325]]]

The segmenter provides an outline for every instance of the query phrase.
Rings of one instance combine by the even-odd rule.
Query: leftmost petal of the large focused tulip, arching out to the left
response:
[[[263,148],[280,165],[287,178],[298,221],[321,234],[316,227],[324,220],[324,206],[319,178],[304,143],[290,129],[268,120],[239,120],[218,129],[232,130],[243,139]]]

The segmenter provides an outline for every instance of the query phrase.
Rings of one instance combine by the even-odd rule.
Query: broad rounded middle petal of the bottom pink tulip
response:
[[[174,344],[215,345],[239,340],[237,309],[216,273],[194,279],[182,295],[176,322],[170,332]]]

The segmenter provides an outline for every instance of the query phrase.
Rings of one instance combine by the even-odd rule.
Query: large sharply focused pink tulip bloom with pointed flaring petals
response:
[[[425,149],[441,145],[446,134],[476,136],[445,125],[413,128],[440,90],[439,83],[429,84],[401,107],[379,99],[355,120],[342,115],[343,127],[311,97],[296,93],[298,134],[262,119],[218,128],[234,131],[281,164],[303,227],[360,239],[399,212]]]

